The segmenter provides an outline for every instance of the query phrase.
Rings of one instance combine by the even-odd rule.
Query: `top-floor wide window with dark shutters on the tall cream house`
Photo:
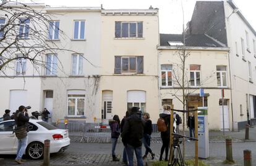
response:
[[[116,22],[116,38],[142,38],[142,22]]]

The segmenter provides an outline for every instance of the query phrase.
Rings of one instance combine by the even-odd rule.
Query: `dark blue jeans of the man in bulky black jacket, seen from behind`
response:
[[[137,165],[143,166],[143,159],[142,159],[142,146],[134,147],[130,144],[126,145],[126,152],[129,160],[129,166],[134,166],[134,151],[137,158]]]

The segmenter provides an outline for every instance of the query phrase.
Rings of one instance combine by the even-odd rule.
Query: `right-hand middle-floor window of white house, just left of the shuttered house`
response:
[[[83,55],[72,55],[72,75],[83,74]]]

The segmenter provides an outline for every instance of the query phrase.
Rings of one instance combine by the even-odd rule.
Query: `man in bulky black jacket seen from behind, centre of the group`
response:
[[[144,124],[139,115],[139,109],[137,107],[131,109],[131,114],[127,118],[121,133],[122,141],[126,146],[129,166],[134,165],[134,151],[137,158],[137,165],[143,166],[142,138]]]

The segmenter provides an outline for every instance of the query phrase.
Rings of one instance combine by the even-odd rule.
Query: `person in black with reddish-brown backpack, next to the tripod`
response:
[[[160,125],[158,125],[158,130],[160,129],[161,132],[161,139],[162,139],[162,147],[161,147],[161,152],[160,152],[160,157],[159,160],[163,160],[163,152],[165,151],[165,157],[164,160],[167,161],[168,160],[168,152],[169,152],[169,143],[170,143],[170,119],[171,119],[171,106],[169,105],[163,105],[163,113],[161,113],[160,119],[158,119],[158,121],[162,121],[164,122],[163,125],[166,126],[165,129],[160,129],[160,128],[164,128],[164,127],[160,127]],[[158,122],[158,124],[161,124]],[[176,128],[176,121],[174,119],[174,123],[173,123],[173,127],[174,127],[174,132],[175,132],[175,128]]]

